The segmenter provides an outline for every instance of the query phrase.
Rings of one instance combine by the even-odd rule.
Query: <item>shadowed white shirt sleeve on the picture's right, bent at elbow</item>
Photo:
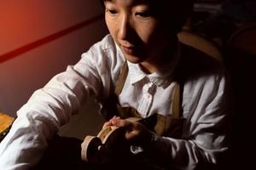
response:
[[[154,157],[177,169],[214,169],[228,150],[229,93],[224,75],[204,77],[185,85],[189,95],[183,138],[154,136]],[[186,96],[184,96],[186,98]],[[185,101],[186,102],[186,101]]]

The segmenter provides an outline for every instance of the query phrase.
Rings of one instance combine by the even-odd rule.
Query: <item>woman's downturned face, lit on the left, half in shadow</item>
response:
[[[150,0],[105,1],[108,30],[125,58],[138,63],[149,72],[158,68],[161,55],[172,35],[160,21]]]

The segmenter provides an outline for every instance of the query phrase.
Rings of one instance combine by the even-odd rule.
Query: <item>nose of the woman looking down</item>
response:
[[[127,15],[123,15],[119,19],[119,39],[129,40],[132,33],[131,20]]]

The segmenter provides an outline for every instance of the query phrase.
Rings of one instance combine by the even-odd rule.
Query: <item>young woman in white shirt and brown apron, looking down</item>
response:
[[[217,61],[177,41],[191,1],[102,3],[110,34],[18,111],[0,145],[0,167],[35,166],[58,128],[96,97],[104,127],[125,127],[134,155],[105,169],[215,168],[228,150],[227,82]],[[126,121],[129,116],[154,123]]]

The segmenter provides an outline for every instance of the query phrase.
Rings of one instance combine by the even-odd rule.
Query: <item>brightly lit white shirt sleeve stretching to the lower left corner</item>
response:
[[[67,71],[34,92],[20,108],[9,134],[0,144],[1,169],[34,166],[47,148],[47,141],[83,102],[108,94],[108,59],[103,59],[106,56],[98,46],[90,48],[76,65],[68,66]]]

